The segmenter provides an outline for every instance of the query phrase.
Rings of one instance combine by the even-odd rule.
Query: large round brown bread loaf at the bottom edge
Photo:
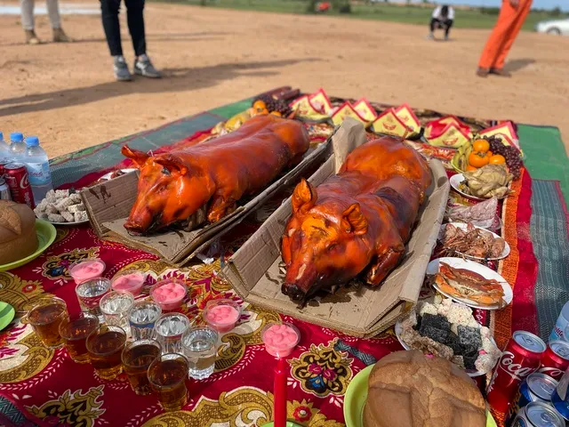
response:
[[[373,367],[364,427],[485,427],[485,400],[448,360],[396,351]]]

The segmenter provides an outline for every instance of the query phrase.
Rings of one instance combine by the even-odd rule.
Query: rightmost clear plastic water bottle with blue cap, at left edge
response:
[[[34,201],[39,205],[44,200],[45,193],[53,189],[50,162],[45,150],[39,146],[39,139],[36,136],[28,136],[26,146],[28,149],[22,158],[22,163],[28,169],[29,185],[34,193]]]

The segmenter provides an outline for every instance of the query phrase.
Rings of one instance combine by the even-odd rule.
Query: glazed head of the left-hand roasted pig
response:
[[[140,169],[138,195],[124,223],[126,230],[145,233],[185,221],[212,197],[210,177],[189,168],[180,157],[148,156],[126,145],[122,152]]]

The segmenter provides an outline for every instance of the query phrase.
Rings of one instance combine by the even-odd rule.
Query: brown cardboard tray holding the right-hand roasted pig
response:
[[[346,120],[333,135],[333,156],[309,181],[317,186],[335,173],[349,151],[365,142],[363,125]],[[300,308],[281,293],[284,267],[280,241],[291,214],[291,198],[233,254],[222,273],[246,302],[346,334],[369,337],[392,326],[419,297],[432,250],[437,243],[450,185],[438,160],[429,162],[433,183],[407,243],[404,261],[377,288],[344,287]]]

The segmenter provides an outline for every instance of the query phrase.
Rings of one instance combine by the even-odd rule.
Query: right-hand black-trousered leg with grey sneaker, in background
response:
[[[140,76],[158,78],[160,72],[152,65],[146,54],[146,35],[144,31],[144,0],[124,0],[126,20],[132,37],[132,47],[136,60],[134,72]]]

